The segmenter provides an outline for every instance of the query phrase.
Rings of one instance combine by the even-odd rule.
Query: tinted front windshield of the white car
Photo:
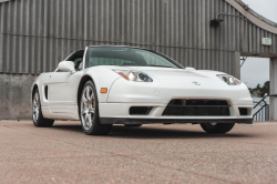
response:
[[[132,48],[90,48],[85,68],[95,65],[160,67],[184,69],[176,61],[147,50]]]

